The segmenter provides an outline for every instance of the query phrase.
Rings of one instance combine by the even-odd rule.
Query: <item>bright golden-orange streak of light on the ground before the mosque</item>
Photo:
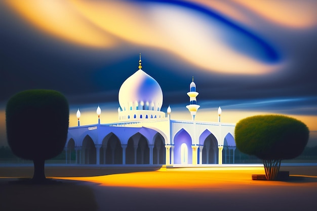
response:
[[[55,178],[93,182],[101,186],[186,189],[208,191],[210,189],[234,190],[248,185],[305,185],[282,181],[254,181],[252,174],[265,174],[263,167],[204,167],[204,168],[161,168],[154,172],[136,172],[97,177]],[[317,178],[316,176],[307,176]],[[317,184],[310,184],[317,187]]]

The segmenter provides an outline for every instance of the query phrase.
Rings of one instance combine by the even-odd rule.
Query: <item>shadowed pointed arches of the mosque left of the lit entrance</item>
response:
[[[108,134],[101,145],[95,145],[87,135],[82,147],[75,147],[70,139],[67,143],[66,163],[76,164],[165,164],[164,138],[158,134],[154,144],[149,145],[140,133],[132,136],[127,145],[122,145],[113,134]],[[75,156],[75,160],[72,157]]]

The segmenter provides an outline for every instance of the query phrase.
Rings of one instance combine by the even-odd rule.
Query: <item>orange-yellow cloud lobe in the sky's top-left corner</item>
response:
[[[115,39],[85,20],[68,1],[10,0],[7,6],[52,36],[89,47],[112,47]]]

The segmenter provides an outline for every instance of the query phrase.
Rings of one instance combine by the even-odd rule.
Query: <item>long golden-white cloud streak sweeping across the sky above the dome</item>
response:
[[[268,65],[232,49],[223,40],[226,27],[182,7],[82,0],[6,3],[39,30],[73,44],[113,48],[125,40],[164,50],[192,67],[227,74],[265,74],[285,65]]]

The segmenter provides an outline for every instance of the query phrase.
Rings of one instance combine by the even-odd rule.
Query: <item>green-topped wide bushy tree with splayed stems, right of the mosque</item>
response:
[[[265,177],[276,180],[282,159],[300,155],[309,138],[307,126],[283,115],[258,115],[240,120],[235,126],[236,147],[263,160]]]

